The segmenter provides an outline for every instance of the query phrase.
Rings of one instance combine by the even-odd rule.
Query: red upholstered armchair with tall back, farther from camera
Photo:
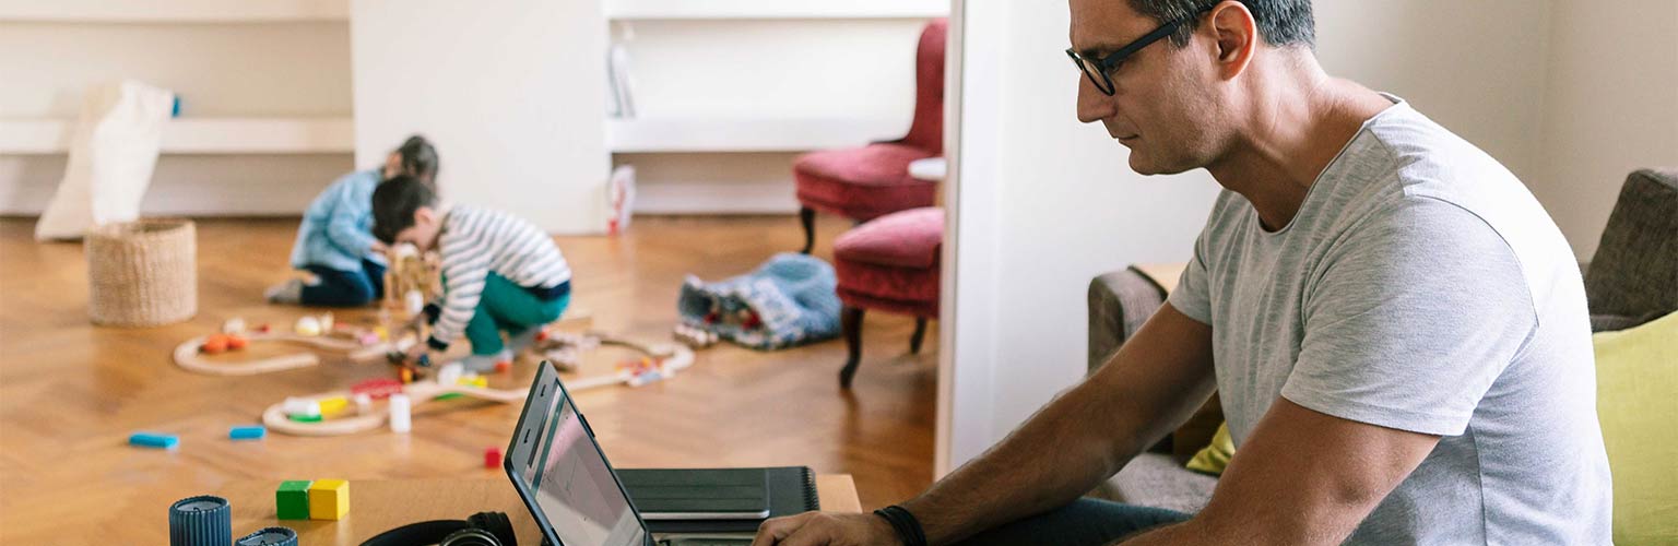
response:
[[[908,136],[862,147],[809,152],[794,161],[805,255],[816,243],[816,211],[862,223],[933,204],[938,184],[911,178],[909,162],[943,156],[946,27],[946,20],[935,18],[921,30],[915,55],[915,122]]]

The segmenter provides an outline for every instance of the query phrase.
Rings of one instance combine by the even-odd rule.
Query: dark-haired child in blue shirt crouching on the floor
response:
[[[421,136],[411,136],[384,159],[383,169],[344,174],[309,204],[292,246],[292,266],[314,283],[289,280],[267,290],[272,303],[357,306],[384,295],[384,245],[373,238],[373,189],[379,181],[408,174],[431,186],[438,157]]]

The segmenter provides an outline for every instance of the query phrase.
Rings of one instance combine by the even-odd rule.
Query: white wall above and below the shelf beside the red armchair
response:
[[[915,45],[925,23],[915,17],[621,20],[614,35],[629,52],[638,117],[886,121],[873,139],[894,139],[915,114]],[[618,154],[614,162],[636,166],[636,211],[794,213],[794,157],[653,152]]]

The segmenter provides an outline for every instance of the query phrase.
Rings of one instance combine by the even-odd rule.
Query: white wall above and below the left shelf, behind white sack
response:
[[[82,2],[87,3],[87,2]],[[23,10],[0,3],[0,13]],[[89,8],[89,12],[99,12]],[[175,90],[188,117],[349,117],[349,25],[97,22],[0,17],[0,119],[74,119],[82,89],[138,79]],[[0,154],[0,214],[37,214],[64,154]],[[158,159],[144,214],[297,213],[349,154]]]

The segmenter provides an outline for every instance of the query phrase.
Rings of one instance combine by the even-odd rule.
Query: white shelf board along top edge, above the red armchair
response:
[[[634,18],[928,18],[948,0],[607,0],[606,17]]]

